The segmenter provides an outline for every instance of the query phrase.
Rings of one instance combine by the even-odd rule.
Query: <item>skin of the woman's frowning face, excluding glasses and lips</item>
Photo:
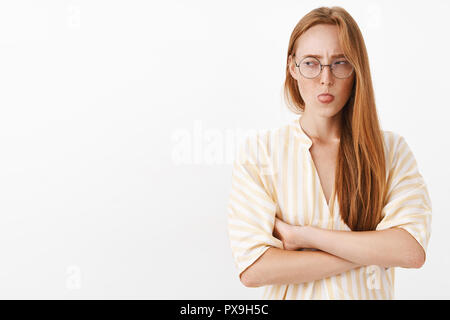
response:
[[[299,65],[301,57],[319,55],[321,64],[331,64],[339,61],[339,58],[334,58],[332,55],[343,53],[338,39],[338,27],[335,25],[315,25],[297,39],[295,56],[289,58],[289,71],[297,80],[300,94],[305,102],[305,112],[325,117],[333,117],[339,113],[350,97],[355,72],[353,71],[352,75],[346,79],[339,79],[333,75],[329,67],[323,67],[317,78],[308,79],[300,74],[294,59]],[[324,92],[332,94],[334,100],[330,103],[320,102],[318,95]]]

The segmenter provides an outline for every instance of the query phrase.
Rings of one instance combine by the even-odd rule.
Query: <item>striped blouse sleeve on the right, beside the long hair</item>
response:
[[[425,253],[431,234],[431,200],[411,149],[402,136],[391,152],[388,193],[383,219],[376,230],[398,227],[408,231]],[[388,158],[391,158],[389,156]]]

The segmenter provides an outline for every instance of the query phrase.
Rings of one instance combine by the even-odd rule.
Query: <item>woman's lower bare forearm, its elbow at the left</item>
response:
[[[241,276],[247,287],[295,284],[334,276],[361,265],[323,251],[270,248]]]

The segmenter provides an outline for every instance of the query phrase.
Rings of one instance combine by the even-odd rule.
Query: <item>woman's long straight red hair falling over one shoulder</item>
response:
[[[317,24],[338,27],[339,43],[355,70],[352,93],[342,114],[342,129],[335,174],[335,193],[342,220],[353,231],[375,230],[381,221],[386,192],[386,163],[370,75],[369,59],[361,31],[341,7],[321,7],[305,15],[289,40],[284,96],[294,113],[305,110],[297,80],[289,72],[289,57],[296,40]]]

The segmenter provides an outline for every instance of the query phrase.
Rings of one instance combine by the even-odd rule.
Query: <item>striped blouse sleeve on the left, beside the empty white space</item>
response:
[[[283,249],[282,242],[272,235],[277,204],[268,192],[267,159],[257,136],[247,136],[233,163],[227,217],[239,277],[267,249]]]

